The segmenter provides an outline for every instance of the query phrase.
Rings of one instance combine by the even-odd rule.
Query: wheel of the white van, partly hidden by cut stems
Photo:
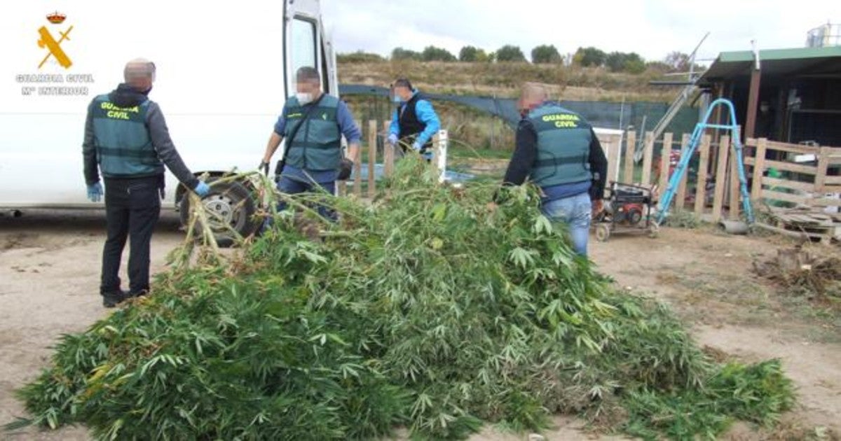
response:
[[[211,184],[213,181],[215,179],[210,178],[207,182]],[[229,181],[211,185],[210,192],[202,198],[202,204],[208,212],[208,222],[214,232],[216,244],[220,247],[230,247],[239,239],[254,234],[260,226],[254,218],[255,204],[251,192],[240,182]],[[188,195],[181,198],[179,212],[181,224],[186,226],[190,216]]]

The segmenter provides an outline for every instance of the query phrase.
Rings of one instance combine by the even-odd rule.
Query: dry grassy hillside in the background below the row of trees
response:
[[[342,63],[339,66],[342,84],[388,87],[395,78],[402,76],[408,77],[422,92],[488,97],[516,97],[525,81],[546,84],[553,99],[572,101],[670,102],[676,93],[674,87],[648,86],[648,81],[659,77],[654,71],[631,75],[578,66],[411,60]],[[390,118],[392,107],[384,98],[345,98],[357,118],[365,121]],[[451,148],[463,148],[463,156],[499,157],[500,151],[513,148],[514,131],[499,118],[452,102],[436,101],[435,108],[442,128],[450,132]]]

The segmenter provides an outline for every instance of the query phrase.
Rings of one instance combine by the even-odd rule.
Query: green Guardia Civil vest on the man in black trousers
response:
[[[93,99],[93,135],[99,169],[105,177],[156,176],[163,164],[146,129],[149,101],[133,108],[119,108],[108,95]]]

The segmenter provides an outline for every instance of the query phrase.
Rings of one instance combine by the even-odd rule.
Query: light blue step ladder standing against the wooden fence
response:
[[[708,123],[710,120],[710,115],[712,111],[717,106],[726,106],[727,109],[730,111],[730,123],[729,124],[711,124]],[[669,205],[672,203],[672,199],[674,199],[674,193],[677,192],[678,186],[680,185],[680,180],[683,179],[684,173],[686,172],[686,168],[689,165],[690,159],[692,159],[692,155],[695,154],[695,150],[698,148],[698,143],[701,142],[701,136],[704,135],[704,131],[706,129],[722,129],[722,130],[730,130],[730,139],[733,140],[733,150],[734,158],[738,161],[738,180],[740,184],[740,192],[742,193],[742,205],[744,209],[745,217],[748,218],[748,223],[754,223],[754,209],[750,206],[750,195],[748,194],[748,180],[745,178],[744,175],[744,160],[742,158],[742,141],[739,139],[739,128],[736,124],[736,111],[733,109],[733,102],[724,98],[718,98],[716,101],[710,103],[710,108],[706,110],[706,115],[703,119],[701,119],[700,123],[697,123],[695,126],[695,130],[692,132],[692,136],[689,140],[689,146],[687,147],[686,151],[683,155],[680,156],[680,162],[678,162],[677,167],[674,169],[674,173],[669,178],[669,186],[666,187],[666,192],[664,192],[663,197],[660,198],[660,207],[659,213],[657,213],[657,223],[662,224],[666,217],[669,215]],[[703,166],[706,166],[704,164]],[[724,176],[716,176],[716,179],[723,179]],[[733,206],[734,202],[730,201],[731,206]]]

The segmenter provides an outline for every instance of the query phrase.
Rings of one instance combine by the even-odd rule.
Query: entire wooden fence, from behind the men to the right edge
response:
[[[356,170],[352,175],[352,188],[348,188],[347,183],[340,183],[340,193],[374,197],[377,192],[374,172],[376,164],[382,164],[383,176],[390,176],[394,172],[395,152],[383,142],[388,129],[388,121],[381,126],[377,121],[369,121],[363,127],[365,136],[361,158],[356,162]],[[648,132],[643,139],[643,160],[636,164],[633,150],[623,149],[623,145],[637,144],[634,132],[622,134],[613,131],[598,136],[608,160],[608,182],[652,186],[660,194],[666,190],[669,173],[674,169],[671,164],[673,150],[675,153],[680,151],[682,155],[690,139],[689,134],[677,137],[671,133],[664,134],[662,139],[654,139],[653,133]],[[436,136],[435,146],[432,163],[443,172],[447,159],[446,130]],[[733,152],[729,136],[721,136],[715,141],[710,134],[703,135],[669,210],[695,213],[712,222],[723,218],[740,218],[743,214],[740,213],[741,192]],[[794,158],[793,155],[800,156]],[[775,159],[768,160],[766,156]],[[813,160],[806,163],[796,161],[810,158]],[[362,161],[368,162],[366,182],[362,181]],[[841,207],[841,199],[838,199],[841,176],[837,176],[841,168],[841,149],[748,139],[744,149],[744,164],[750,184],[748,192],[754,207],[768,200],[808,207]],[[769,176],[770,169],[787,176]],[[807,177],[804,179],[804,176]]]

